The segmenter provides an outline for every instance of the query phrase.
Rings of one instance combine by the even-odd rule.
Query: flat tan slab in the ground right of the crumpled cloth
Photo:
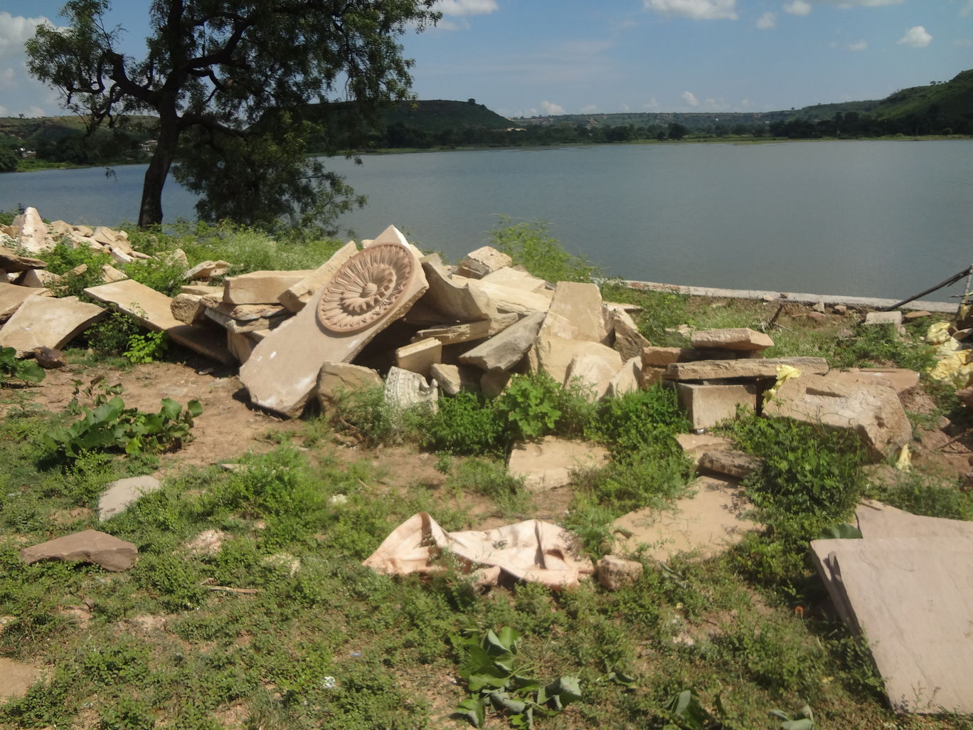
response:
[[[697,493],[677,501],[674,510],[646,507],[618,518],[613,527],[631,534],[619,539],[616,552],[645,545],[645,555],[658,561],[679,553],[710,558],[756,529],[743,517],[750,505],[738,488],[710,477],[699,477],[694,486]]]

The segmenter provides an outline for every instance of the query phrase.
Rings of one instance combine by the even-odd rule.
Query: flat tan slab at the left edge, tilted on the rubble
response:
[[[35,347],[60,349],[104,314],[77,297],[30,297],[0,328],[0,347],[15,347],[18,357]]]

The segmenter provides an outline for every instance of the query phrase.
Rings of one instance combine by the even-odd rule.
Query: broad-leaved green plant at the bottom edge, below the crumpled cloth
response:
[[[469,719],[473,727],[483,727],[486,705],[504,712],[516,728],[534,726],[534,716],[557,714],[581,699],[577,677],[561,676],[542,686],[536,679],[521,674],[518,656],[520,633],[505,626],[498,634],[492,630],[482,637],[450,636],[460,655],[459,675],[466,680],[470,696],[456,707],[456,713]]]

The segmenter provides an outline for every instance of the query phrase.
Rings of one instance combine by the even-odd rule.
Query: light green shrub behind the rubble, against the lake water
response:
[[[544,221],[512,223],[507,216],[490,232],[490,245],[507,254],[515,265],[548,281],[591,281],[600,270],[584,256],[565,251],[548,233]]]

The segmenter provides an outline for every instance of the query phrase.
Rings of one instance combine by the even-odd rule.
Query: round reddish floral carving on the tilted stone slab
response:
[[[399,303],[414,266],[412,252],[398,243],[359,251],[344,262],[321,295],[321,326],[341,334],[365,329]]]

